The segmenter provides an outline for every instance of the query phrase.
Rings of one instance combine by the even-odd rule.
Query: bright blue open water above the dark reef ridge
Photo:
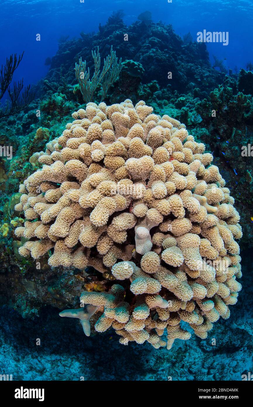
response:
[[[224,60],[227,68],[245,68],[252,55],[253,5],[248,0],[2,0],[0,20],[0,65],[12,53],[23,51],[24,59],[19,77],[24,83],[36,83],[44,77],[47,57],[55,55],[58,39],[63,35],[79,37],[81,31],[98,31],[113,11],[124,11],[124,22],[129,25],[143,11],[150,11],[154,22],[172,24],[178,35],[190,32],[196,40],[198,31],[229,32],[229,44],[207,44],[211,63],[212,55]],[[36,34],[41,41],[36,41]],[[17,72],[14,76],[16,79]]]

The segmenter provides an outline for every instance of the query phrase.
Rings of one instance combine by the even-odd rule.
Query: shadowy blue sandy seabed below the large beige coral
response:
[[[176,340],[170,351],[149,344],[122,346],[113,330],[85,337],[78,320],[61,319],[51,306],[33,320],[2,306],[0,366],[8,366],[13,380],[241,380],[245,366],[252,371],[250,256],[242,252],[242,292],[231,317],[214,324],[207,339]]]

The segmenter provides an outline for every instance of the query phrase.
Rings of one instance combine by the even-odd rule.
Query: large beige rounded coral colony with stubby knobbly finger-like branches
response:
[[[240,217],[212,155],[144,101],[88,103],[72,117],[20,185],[20,255],[51,249],[51,267],[98,270],[105,291],[80,292],[85,315],[61,315],[87,324],[95,313],[96,331],[112,327],[121,344],[159,348],[166,333],[170,349],[191,336],[181,321],[206,338],[241,289]]]

